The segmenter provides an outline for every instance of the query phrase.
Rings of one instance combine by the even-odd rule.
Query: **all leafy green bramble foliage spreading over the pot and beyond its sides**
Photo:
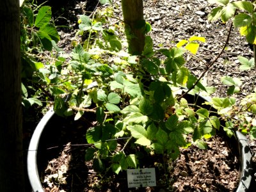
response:
[[[241,35],[245,35],[248,42],[255,42],[256,33],[250,32],[255,30],[254,3],[210,2],[220,7],[212,10],[209,20],[221,17],[227,22],[234,17],[234,26],[241,28]],[[235,16],[237,8],[248,14]],[[200,44],[206,42],[202,36],[191,36],[180,40],[175,47],[156,51],[152,38],[145,34],[141,56],[131,55],[126,51],[127,42],[120,37],[124,34],[124,23],[118,20],[109,26],[113,10],[106,6],[95,10],[92,17],[79,15],[77,36],[87,35],[88,38],[72,42],[74,49],[67,54],[56,46],[60,37],[50,22],[51,8],[42,6],[36,16],[26,4],[22,9],[22,50],[30,67],[27,71],[32,70],[31,79],[41,90],[34,98],[36,94],[44,94],[48,100],[54,99],[54,111],[61,116],[74,115],[74,120],[95,113],[97,123],[86,132],[86,140],[92,147],[85,155],[86,161],[93,161],[95,171],[113,170],[118,174],[127,168],[142,167],[140,160],[149,155],[161,156],[166,172],[168,163],[179,157],[180,147],[196,145],[205,149],[205,140],[220,128],[230,137],[237,129],[256,137],[253,120],[256,93],[248,95],[239,105],[233,97],[214,97],[206,102],[217,111],[198,106],[196,100],[189,103],[184,97],[188,93],[212,93],[213,88],[201,79],[227,44],[202,76],[196,77],[184,65],[184,54],[196,54]],[[239,20],[243,20],[243,24]],[[143,33],[150,31],[145,20],[140,24],[145,25],[141,27],[146,29]],[[51,51],[51,58],[36,58],[42,49]],[[46,63],[40,62],[42,60]],[[253,67],[253,60],[240,56],[239,61],[241,70]],[[240,91],[239,79],[223,76],[221,81],[229,86],[228,95]],[[24,96],[28,97],[26,88],[22,88]],[[221,124],[220,119],[225,124]]]

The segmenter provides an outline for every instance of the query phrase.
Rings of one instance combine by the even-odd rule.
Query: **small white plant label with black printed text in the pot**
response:
[[[128,188],[143,188],[156,186],[155,168],[127,170]]]

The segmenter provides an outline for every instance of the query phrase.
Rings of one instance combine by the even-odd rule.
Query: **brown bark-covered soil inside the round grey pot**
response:
[[[55,149],[57,154],[51,156],[52,159],[44,159],[44,164],[41,164],[41,180],[45,191],[233,191],[237,187],[237,149],[230,150],[222,136],[213,136],[207,140],[207,150],[197,147],[181,149],[179,159],[168,163],[165,168],[167,172],[163,168],[165,157],[159,154],[150,157],[142,155],[140,168],[156,168],[157,186],[129,189],[125,171],[118,175],[111,170],[97,173],[93,170],[92,161],[85,161],[86,148],[90,147],[86,144],[84,128],[90,126],[88,122],[82,120],[64,126],[65,122],[62,121],[62,124],[56,138],[61,140],[58,152],[56,143],[50,147],[47,140],[47,151]],[[140,152],[146,154],[141,148]],[[39,153],[38,157],[42,160],[46,156],[40,157]]]

